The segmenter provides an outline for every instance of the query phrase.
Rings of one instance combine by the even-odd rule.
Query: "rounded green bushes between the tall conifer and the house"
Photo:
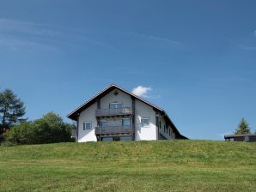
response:
[[[14,144],[41,144],[68,142],[72,125],[64,123],[57,114],[50,112],[33,122],[23,122],[10,129],[7,141]]]

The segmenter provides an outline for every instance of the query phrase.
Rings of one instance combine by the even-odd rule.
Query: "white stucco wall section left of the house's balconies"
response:
[[[95,117],[95,111],[97,109],[97,103],[90,105],[86,110],[82,111],[79,117],[78,125],[78,142],[85,141],[97,141],[94,129],[97,126],[97,120]],[[92,129],[83,130],[83,122],[92,122]]]

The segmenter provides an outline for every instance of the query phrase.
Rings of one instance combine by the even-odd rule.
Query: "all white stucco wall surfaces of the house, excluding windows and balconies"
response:
[[[108,109],[109,103],[118,102],[123,103],[124,107],[132,106],[131,96],[127,93],[119,92],[118,95],[114,95],[112,92],[108,93],[106,96],[101,98],[101,109]],[[94,128],[97,126],[97,120],[95,117],[95,111],[97,109],[97,103],[95,102],[93,105],[90,105],[86,110],[82,111],[79,117],[79,130],[78,130],[78,142],[85,141],[97,141],[96,136],[94,134]],[[144,104],[142,101],[135,99],[135,140],[156,140],[157,139],[157,129],[155,126],[155,111],[153,107],[147,104]],[[150,126],[149,128],[142,128],[141,119],[149,118]],[[101,119],[116,120],[122,119],[123,117],[101,117]],[[83,130],[83,122],[92,122],[92,129]],[[163,123],[162,123],[162,131],[163,131]],[[166,135],[168,137],[168,134]]]

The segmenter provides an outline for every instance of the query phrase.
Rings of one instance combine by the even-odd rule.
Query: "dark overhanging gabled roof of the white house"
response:
[[[111,91],[113,91],[113,89],[119,89],[120,91],[122,92],[125,92],[129,95],[131,95],[131,97],[133,98],[136,98],[140,101],[142,101],[143,103],[147,104],[147,105],[150,105],[154,108],[154,110],[156,111],[159,111],[162,115],[162,117],[166,117],[166,119],[168,120],[169,123],[171,123],[172,127],[176,130],[175,132],[177,133],[176,137],[179,138],[179,139],[187,139],[186,136],[183,136],[183,135],[180,135],[180,132],[179,130],[175,127],[174,123],[171,121],[170,117],[168,117],[168,114],[159,106],[157,105],[154,105],[154,104],[151,104],[149,101],[145,100],[145,99],[142,99],[140,97],[138,97],[136,94],[133,94],[127,90],[125,90],[124,88],[122,87],[119,87],[115,84],[110,84],[109,86],[107,86],[106,88],[102,89],[100,93],[97,93],[95,94],[91,99],[88,99],[86,102],[84,102],[82,105],[78,106],[76,108],[76,110],[74,111],[71,111],[67,117],[69,117],[70,119],[72,120],[75,120],[77,119],[77,116],[80,114],[80,112],[84,111],[86,108],[88,108],[88,106],[90,105],[93,105],[94,102],[97,101],[98,98],[101,98],[101,97],[104,97],[105,95],[107,95],[107,93],[110,93]]]

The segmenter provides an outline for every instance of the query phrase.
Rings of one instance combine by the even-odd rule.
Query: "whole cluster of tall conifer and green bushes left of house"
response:
[[[74,124],[49,112],[34,121],[24,118],[26,108],[21,99],[9,89],[0,92],[0,142],[13,144],[40,144],[74,141]]]

